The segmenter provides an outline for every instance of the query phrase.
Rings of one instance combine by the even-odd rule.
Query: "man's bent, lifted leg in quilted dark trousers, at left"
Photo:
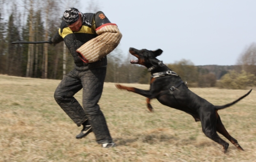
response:
[[[60,84],[55,90],[54,98],[67,115],[80,126],[87,117],[84,109],[73,96],[82,89],[82,84],[78,78],[79,71],[73,69],[64,76]]]

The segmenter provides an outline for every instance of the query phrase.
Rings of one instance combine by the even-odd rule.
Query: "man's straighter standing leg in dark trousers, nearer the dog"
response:
[[[105,117],[98,105],[105,81],[106,67],[90,69],[81,78],[83,107],[99,144],[112,143]]]

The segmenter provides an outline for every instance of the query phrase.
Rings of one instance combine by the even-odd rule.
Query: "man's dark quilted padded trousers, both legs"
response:
[[[54,93],[55,101],[77,126],[89,121],[99,144],[112,142],[105,117],[98,105],[105,76],[106,67],[86,71],[73,69],[64,76]],[[82,88],[84,108],[74,98]]]

